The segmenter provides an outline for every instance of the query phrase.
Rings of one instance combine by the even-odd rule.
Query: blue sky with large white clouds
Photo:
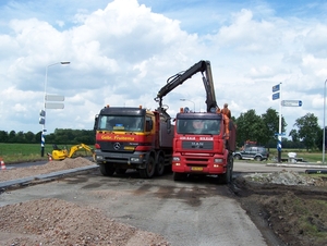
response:
[[[167,79],[201,60],[233,116],[275,109],[287,135],[306,113],[325,123],[324,0],[1,0],[0,44],[0,131],[40,132],[46,94],[64,98],[63,109],[46,109],[48,134],[93,130],[107,104],[155,110]],[[205,111],[205,97],[198,73],[164,104],[173,118],[183,107]]]

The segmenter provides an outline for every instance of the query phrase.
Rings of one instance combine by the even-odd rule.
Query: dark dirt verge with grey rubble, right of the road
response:
[[[281,239],[279,245],[327,245],[325,174],[284,168],[239,175],[232,189],[262,233],[272,231]]]

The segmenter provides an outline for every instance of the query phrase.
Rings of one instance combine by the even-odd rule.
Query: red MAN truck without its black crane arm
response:
[[[226,125],[228,124],[228,125]],[[172,172],[174,181],[187,174],[232,179],[235,128],[221,113],[178,113],[175,118]]]

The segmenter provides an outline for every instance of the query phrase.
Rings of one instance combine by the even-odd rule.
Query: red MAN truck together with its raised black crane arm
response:
[[[160,109],[167,94],[199,72],[206,90],[206,112],[185,108],[174,119],[173,180],[182,181],[189,174],[217,175],[218,183],[227,184],[232,180],[237,130],[217,104],[210,62],[199,61],[169,77],[155,100]]]

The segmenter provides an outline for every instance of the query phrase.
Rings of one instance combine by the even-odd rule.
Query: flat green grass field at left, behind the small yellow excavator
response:
[[[72,145],[59,145],[59,148],[66,146],[68,149]],[[24,161],[38,161],[48,160],[47,152],[52,152],[52,144],[45,145],[45,156],[40,156],[40,144],[4,144],[0,143],[0,157],[5,164],[24,162]],[[81,150],[82,151],[82,150]]]

